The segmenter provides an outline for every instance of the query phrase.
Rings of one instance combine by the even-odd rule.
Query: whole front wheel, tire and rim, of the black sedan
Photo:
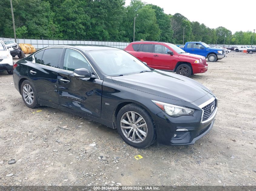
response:
[[[116,118],[117,130],[121,138],[136,148],[146,148],[154,143],[156,130],[148,112],[137,104],[121,108]]]

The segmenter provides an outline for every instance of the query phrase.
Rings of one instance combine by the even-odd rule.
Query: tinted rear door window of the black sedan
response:
[[[45,52],[41,60],[41,64],[58,68],[58,62],[61,53],[62,48],[45,49]]]

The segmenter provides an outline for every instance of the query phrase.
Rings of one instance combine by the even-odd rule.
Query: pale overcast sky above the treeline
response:
[[[180,13],[190,21],[204,23],[209,28],[225,27],[232,31],[256,29],[256,1],[238,0],[142,0],[164,8],[166,14]],[[125,0],[129,5],[131,0]],[[251,19],[250,19],[251,18]]]

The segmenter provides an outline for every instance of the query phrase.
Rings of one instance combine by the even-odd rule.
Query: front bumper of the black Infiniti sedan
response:
[[[207,98],[208,99],[208,98]],[[205,102],[205,98],[195,101],[194,105],[200,105],[201,101]],[[199,138],[206,135],[213,127],[214,118],[218,110],[218,100],[212,115],[207,120],[202,120],[203,110],[201,107],[195,109],[192,116],[168,116],[164,111],[156,114],[154,118],[157,141],[163,145],[191,145],[194,144]],[[187,105],[189,107],[189,105]],[[186,130],[185,130],[186,129]]]

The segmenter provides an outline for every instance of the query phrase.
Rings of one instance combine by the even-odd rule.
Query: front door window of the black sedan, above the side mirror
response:
[[[78,68],[86,68],[91,71],[90,64],[81,53],[76,50],[66,49],[63,69],[74,71]]]

